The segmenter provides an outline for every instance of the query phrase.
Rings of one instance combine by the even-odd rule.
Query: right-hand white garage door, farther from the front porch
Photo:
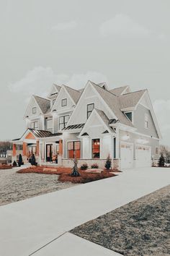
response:
[[[144,145],[136,145],[135,159],[135,167],[151,166],[151,147]]]

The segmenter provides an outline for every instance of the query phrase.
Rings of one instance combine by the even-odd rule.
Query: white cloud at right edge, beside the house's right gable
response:
[[[156,113],[156,118],[158,119],[158,124],[161,129],[161,134],[163,137],[162,143],[164,145],[170,145],[170,100],[156,100],[153,103],[153,108]]]

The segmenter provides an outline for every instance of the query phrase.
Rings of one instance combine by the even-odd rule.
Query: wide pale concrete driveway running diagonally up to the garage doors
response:
[[[58,236],[164,187],[169,181],[169,168],[131,169],[124,171],[120,176],[1,206],[0,255],[45,255],[44,249],[45,252],[48,249],[48,256],[61,256],[63,249],[64,256],[72,255],[71,249],[67,247],[67,237],[62,238],[66,238],[63,243],[63,247],[66,248],[62,249],[56,242]],[[56,240],[52,242],[53,239]],[[73,247],[79,247],[76,239],[73,240]],[[44,247],[48,243],[50,244]],[[40,249],[41,247],[43,249]],[[37,249],[40,250],[36,252]]]

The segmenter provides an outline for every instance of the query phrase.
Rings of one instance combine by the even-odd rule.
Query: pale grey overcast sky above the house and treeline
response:
[[[169,0],[1,0],[0,140],[21,137],[30,95],[92,80],[148,88],[170,145],[169,9]]]

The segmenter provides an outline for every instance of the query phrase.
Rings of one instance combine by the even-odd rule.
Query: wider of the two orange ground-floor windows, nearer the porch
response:
[[[81,158],[81,142],[68,142],[68,158]]]

